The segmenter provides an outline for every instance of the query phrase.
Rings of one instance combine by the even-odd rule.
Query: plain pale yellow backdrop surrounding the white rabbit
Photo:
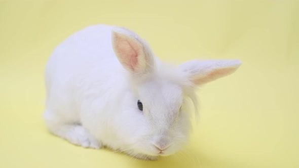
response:
[[[181,152],[136,160],[45,129],[48,57],[100,23],[134,30],[162,60],[242,60],[200,90],[200,123]],[[299,167],[298,72],[298,1],[2,1],[0,167]]]

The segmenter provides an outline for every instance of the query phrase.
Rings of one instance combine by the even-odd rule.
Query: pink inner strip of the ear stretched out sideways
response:
[[[206,74],[202,74],[201,77],[196,77],[193,79],[193,82],[196,85],[202,85],[204,83],[213,81],[219,77],[223,77],[233,73],[236,70],[236,67],[228,67],[228,68],[221,68],[221,69],[214,69]]]

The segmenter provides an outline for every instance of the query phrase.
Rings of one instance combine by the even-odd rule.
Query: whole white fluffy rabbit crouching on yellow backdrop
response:
[[[63,41],[47,63],[45,122],[73,144],[155,160],[188,139],[191,116],[184,102],[196,103],[196,87],[240,64],[193,60],[170,67],[134,32],[89,26]]]

